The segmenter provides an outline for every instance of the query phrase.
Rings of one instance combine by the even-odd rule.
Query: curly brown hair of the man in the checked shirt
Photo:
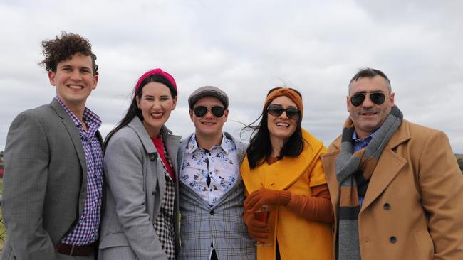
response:
[[[86,38],[75,34],[61,32],[61,38],[56,36],[54,40],[43,40],[43,55],[45,59],[41,65],[45,65],[46,71],[56,72],[56,66],[63,60],[69,60],[76,53],[80,53],[92,58],[93,75],[98,75],[98,65],[96,65],[96,55],[92,53],[92,45]]]

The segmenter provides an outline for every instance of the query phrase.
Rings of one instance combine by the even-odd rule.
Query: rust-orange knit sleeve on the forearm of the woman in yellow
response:
[[[328,185],[311,187],[311,191],[313,197],[291,193],[291,199],[286,207],[307,220],[333,223],[333,207]]]

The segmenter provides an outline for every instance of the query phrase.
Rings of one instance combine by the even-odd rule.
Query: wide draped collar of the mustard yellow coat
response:
[[[264,162],[261,166],[250,170],[246,155],[241,164],[241,178],[246,185],[246,193],[259,190],[262,186],[271,190],[285,190],[298,180],[308,168],[313,167],[323,143],[305,129],[302,129],[302,137],[307,143],[304,143],[303,151],[298,157],[285,156],[276,163],[269,165]]]

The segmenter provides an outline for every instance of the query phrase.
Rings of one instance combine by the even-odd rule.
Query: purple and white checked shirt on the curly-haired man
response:
[[[98,137],[95,136],[96,131],[101,126],[100,117],[91,112],[85,107],[83,112],[83,121],[87,124],[88,131],[83,129],[82,123],[64,104],[61,99],[56,96],[56,100],[61,104],[80,134],[83,150],[85,151],[85,161],[87,163],[87,197],[83,207],[82,215],[76,227],[66,237],[61,240],[63,244],[72,244],[81,246],[91,244],[98,239],[98,227],[100,227],[100,210],[101,197],[103,194],[103,149]]]

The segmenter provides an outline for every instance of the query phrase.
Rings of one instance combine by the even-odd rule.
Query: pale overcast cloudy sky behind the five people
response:
[[[98,56],[88,107],[103,134],[125,113],[137,77],[161,67],[179,87],[167,122],[175,134],[194,130],[187,98],[197,87],[229,94],[225,128],[237,136],[266,92],[287,85],[303,94],[303,127],[328,145],[348,115],[350,77],[375,67],[390,77],[405,119],[445,131],[463,153],[463,1],[53,2],[0,2],[0,150],[16,114],[54,97],[40,43],[68,31]]]

